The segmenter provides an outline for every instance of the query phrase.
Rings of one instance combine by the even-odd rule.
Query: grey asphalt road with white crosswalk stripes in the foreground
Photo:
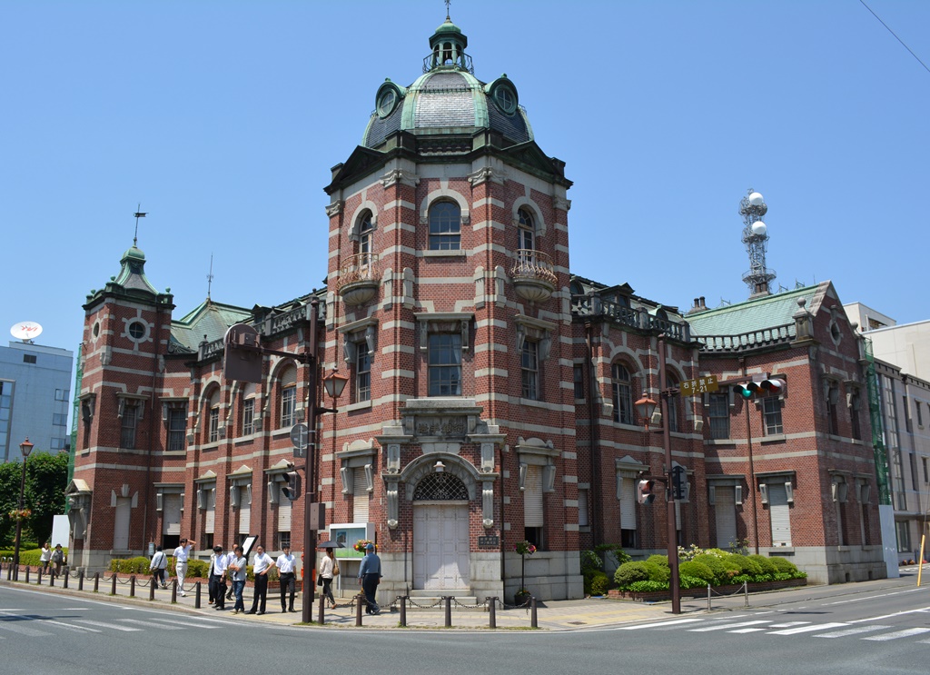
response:
[[[915,673],[930,590],[851,585],[578,631],[308,629],[0,588],[0,673]]]

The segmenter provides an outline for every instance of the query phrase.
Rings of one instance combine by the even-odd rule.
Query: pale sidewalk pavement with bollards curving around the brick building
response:
[[[177,596],[177,602],[171,603],[171,587],[168,589],[155,589],[154,600],[149,600],[148,576],[137,577],[136,595],[129,597],[129,576],[120,576],[116,584],[116,595],[111,595],[113,582],[110,573],[100,576],[100,587],[97,593],[93,592],[93,579],[86,578],[84,590],[78,590],[77,576],[69,578],[69,588],[62,588],[61,577],[55,579],[55,586],[48,583],[48,576],[44,576],[42,586],[36,582],[33,573],[28,586],[24,583],[24,573],[20,572],[20,581],[7,581],[7,570],[0,576],[0,586],[7,588],[29,588],[43,590],[79,598],[86,597],[97,601],[127,602],[138,606],[157,608],[168,611],[183,612],[185,614],[203,615],[205,617],[219,618],[231,621],[250,621],[279,626],[299,625],[301,622],[301,594],[298,593],[295,607],[296,613],[282,613],[280,610],[280,595],[276,584],[269,585],[268,603],[264,615],[233,615],[233,602],[226,601],[226,610],[217,611],[207,602],[206,583],[201,587],[201,606],[196,609],[195,592],[193,584],[188,582],[186,597]],[[897,579],[879,579],[876,581],[844,584],[840,586],[809,586],[798,589],[784,589],[764,593],[751,593],[749,595],[750,608],[777,606],[783,602],[798,602],[806,599],[820,597],[833,597],[837,595],[850,595],[863,593],[874,589],[899,588],[915,584],[913,578],[902,576]],[[251,607],[251,589],[246,588],[243,596],[246,610]],[[416,602],[416,599],[415,599]],[[743,611],[746,607],[746,598],[742,593],[730,596],[719,596],[711,593],[711,612]],[[355,604],[353,598],[337,598],[338,607],[335,610],[326,610],[325,628],[358,629],[355,626]],[[708,601],[706,598],[683,598],[681,602],[682,614],[707,613]],[[319,598],[313,603],[312,619],[317,621],[319,611]],[[671,618],[671,602],[630,602],[610,600],[606,598],[585,598],[583,600],[559,600],[538,602],[537,604],[538,629],[548,630],[579,630],[579,629],[605,629],[627,623],[642,623],[648,621],[661,621]],[[403,629],[400,626],[400,612],[396,603],[381,607],[380,615],[365,615],[362,613],[364,629]],[[496,612],[498,629],[530,629],[531,613],[528,608],[500,609]],[[321,629],[319,624],[312,627]],[[408,607],[406,610],[407,629],[448,629],[445,628],[445,606],[440,604],[428,609]],[[452,603],[451,629],[488,629],[489,613],[487,608],[463,608]],[[308,627],[310,628],[310,627]]]

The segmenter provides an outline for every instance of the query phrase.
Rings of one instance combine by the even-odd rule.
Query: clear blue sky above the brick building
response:
[[[930,3],[867,0],[925,62]],[[740,198],[777,284],[831,279],[927,318],[930,73],[857,0],[456,0],[475,74],[507,73],[567,163],[572,271],[686,309],[747,298]],[[329,168],[385,77],[420,73],[438,0],[0,6],[4,329],[76,349],[139,245],[176,317],[323,285]],[[12,339],[12,338],[10,338]]]

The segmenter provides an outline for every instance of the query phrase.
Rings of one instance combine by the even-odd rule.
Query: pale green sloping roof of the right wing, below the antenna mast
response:
[[[692,334],[701,336],[737,336],[751,331],[777,326],[788,326],[788,333],[795,336],[794,314],[798,311],[798,300],[804,298],[805,309],[817,314],[823,299],[836,297],[832,283],[822,282],[813,286],[795,288],[763,298],[752,298],[736,305],[718,307],[688,315]]]

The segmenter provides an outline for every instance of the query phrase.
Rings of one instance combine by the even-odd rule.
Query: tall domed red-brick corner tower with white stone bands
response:
[[[324,498],[374,523],[385,598],[509,596],[523,540],[525,584],[578,597],[571,181],[466,46],[446,18],[326,186],[326,362],[351,379],[324,421]]]

